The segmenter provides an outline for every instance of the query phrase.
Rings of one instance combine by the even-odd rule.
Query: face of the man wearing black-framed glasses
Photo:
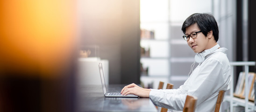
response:
[[[195,23],[186,28],[185,35],[190,35],[193,32],[198,32],[198,31],[201,31],[201,30],[198,28],[197,23]],[[206,49],[207,43],[208,43],[208,38],[206,38],[206,36],[202,32],[197,33],[196,38],[190,37],[189,40],[187,40],[188,46],[195,53],[200,53],[200,52],[204,51]]]

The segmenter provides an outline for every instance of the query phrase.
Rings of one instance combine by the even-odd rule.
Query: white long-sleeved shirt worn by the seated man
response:
[[[220,90],[230,89],[231,71],[228,49],[216,49],[206,56],[178,89],[151,89],[149,98],[161,107],[182,111],[187,95],[198,98],[195,112],[214,112]]]

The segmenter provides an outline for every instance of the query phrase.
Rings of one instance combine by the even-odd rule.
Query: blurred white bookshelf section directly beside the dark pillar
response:
[[[169,76],[169,0],[140,0],[141,81],[156,88]]]

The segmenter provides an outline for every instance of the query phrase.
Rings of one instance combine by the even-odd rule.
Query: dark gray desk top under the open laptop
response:
[[[121,91],[124,85],[109,85],[107,91]],[[107,98],[101,85],[78,88],[78,112],[157,112],[149,98]]]

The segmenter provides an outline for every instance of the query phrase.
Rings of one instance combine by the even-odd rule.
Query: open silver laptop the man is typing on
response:
[[[125,96],[125,95],[121,95],[120,92],[107,92],[102,63],[99,63],[99,70],[100,70],[100,79],[101,79],[102,90],[103,90],[105,97],[138,97],[133,94]]]

